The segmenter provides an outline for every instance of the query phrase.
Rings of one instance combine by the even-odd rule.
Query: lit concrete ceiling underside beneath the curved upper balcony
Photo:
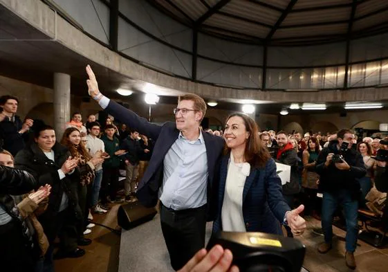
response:
[[[75,96],[87,96],[86,64],[91,64],[98,75],[100,89],[110,98],[119,98],[123,102],[143,103],[143,92],[147,92],[147,82],[128,78],[111,71],[104,66],[91,62],[86,57],[71,51],[59,42],[53,41],[13,12],[0,5],[0,75],[25,82],[53,88],[53,73],[71,75],[71,93]],[[124,88],[135,91],[132,96],[124,98],[116,89]],[[162,94],[160,103],[176,104],[181,91],[159,88]],[[216,108],[241,110],[241,101],[214,98],[219,101]],[[278,114],[290,103],[274,101],[255,101],[259,104],[259,113]],[[342,102],[332,102],[326,112],[342,111]],[[387,106],[388,103],[385,102]],[[298,111],[295,111],[298,112]]]

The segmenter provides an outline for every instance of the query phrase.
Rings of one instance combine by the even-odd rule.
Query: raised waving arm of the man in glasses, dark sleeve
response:
[[[91,66],[86,66],[86,73],[89,76],[89,80],[86,80],[89,88],[89,96],[96,100],[103,109],[106,109],[109,114],[122,120],[122,123],[140,132],[140,134],[145,134],[155,140],[158,138],[160,130],[162,129],[160,125],[149,123],[145,118],[138,116],[133,111],[103,96],[98,89],[98,82]]]

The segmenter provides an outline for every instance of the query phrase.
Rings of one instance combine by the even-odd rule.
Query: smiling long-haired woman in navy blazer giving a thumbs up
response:
[[[225,156],[221,160],[218,210],[213,233],[253,231],[281,235],[280,222],[301,235],[306,222],[284,201],[275,161],[259,140],[255,120],[246,114],[228,117]]]

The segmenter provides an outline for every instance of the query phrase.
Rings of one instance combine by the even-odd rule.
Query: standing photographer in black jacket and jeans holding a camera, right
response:
[[[333,214],[338,205],[344,209],[347,222],[346,264],[355,269],[354,251],[358,236],[358,198],[360,197],[359,178],[367,173],[361,154],[353,145],[354,134],[349,129],[337,133],[337,141],[331,142],[320,152],[315,170],[320,174],[320,190],[323,192],[322,229],[324,242],[318,246],[320,253],[331,249],[333,237]]]

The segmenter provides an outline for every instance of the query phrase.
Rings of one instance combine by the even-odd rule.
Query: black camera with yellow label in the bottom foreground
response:
[[[210,237],[207,249],[216,244],[232,251],[232,264],[241,272],[299,272],[306,253],[299,240],[267,233],[221,231]]]

